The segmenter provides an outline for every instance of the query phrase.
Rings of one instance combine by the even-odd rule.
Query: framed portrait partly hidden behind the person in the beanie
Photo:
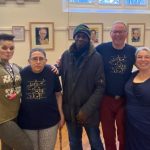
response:
[[[91,31],[91,41],[94,46],[103,42],[103,23],[86,23]]]

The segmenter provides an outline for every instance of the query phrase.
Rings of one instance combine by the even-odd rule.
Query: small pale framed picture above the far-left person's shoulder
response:
[[[15,36],[15,41],[25,41],[25,27],[12,26],[12,34]]]

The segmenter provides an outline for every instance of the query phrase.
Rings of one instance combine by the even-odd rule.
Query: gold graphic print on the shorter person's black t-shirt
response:
[[[46,98],[46,80],[32,80],[28,81],[27,85],[27,99],[43,99]]]

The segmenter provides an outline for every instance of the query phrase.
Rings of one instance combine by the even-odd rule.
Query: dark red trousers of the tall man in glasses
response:
[[[101,123],[106,150],[117,150],[116,133],[119,150],[125,150],[125,112],[123,98],[115,99],[104,96],[101,109]]]

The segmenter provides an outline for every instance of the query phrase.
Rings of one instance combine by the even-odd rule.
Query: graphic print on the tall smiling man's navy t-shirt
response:
[[[112,56],[112,58],[109,61],[111,72],[123,74],[127,69],[126,60],[127,57],[125,55],[124,56],[118,55],[117,57]]]

